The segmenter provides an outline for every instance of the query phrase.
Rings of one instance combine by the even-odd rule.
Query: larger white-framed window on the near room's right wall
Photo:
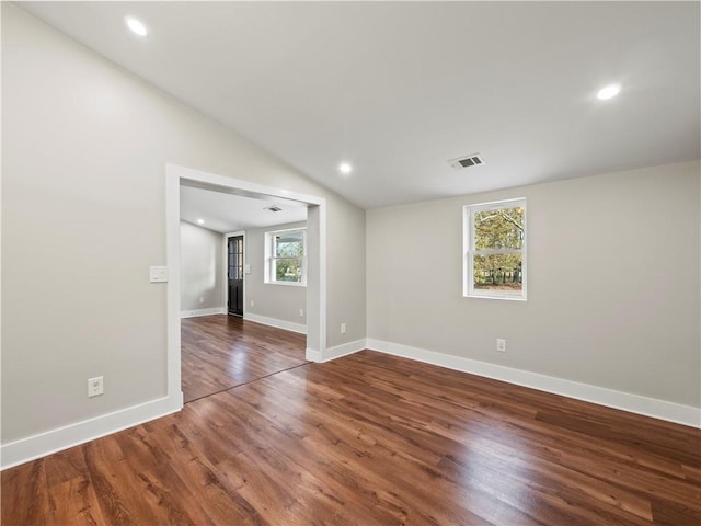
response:
[[[463,207],[463,296],[526,299],[526,199]]]

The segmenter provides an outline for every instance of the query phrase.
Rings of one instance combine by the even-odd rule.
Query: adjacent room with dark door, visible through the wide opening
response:
[[[185,403],[306,364],[307,205],[181,186]]]

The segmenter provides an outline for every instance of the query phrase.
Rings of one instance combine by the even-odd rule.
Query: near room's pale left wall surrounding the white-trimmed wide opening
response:
[[[365,336],[363,209],[2,2],[3,445],[165,396],[166,163],[325,198],[327,345]]]

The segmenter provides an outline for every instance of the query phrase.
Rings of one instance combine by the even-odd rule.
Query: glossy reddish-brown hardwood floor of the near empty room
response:
[[[9,469],[10,525],[694,525],[701,431],[364,351]]]

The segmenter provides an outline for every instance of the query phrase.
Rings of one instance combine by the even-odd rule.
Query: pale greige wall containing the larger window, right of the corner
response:
[[[699,170],[368,210],[368,338],[699,407]],[[528,301],[463,298],[462,206],[512,197],[528,199]]]

